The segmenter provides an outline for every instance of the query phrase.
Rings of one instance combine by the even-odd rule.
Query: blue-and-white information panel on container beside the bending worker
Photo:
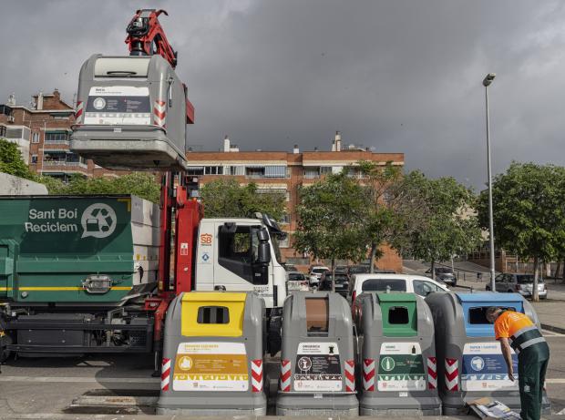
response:
[[[514,372],[518,372],[518,356],[512,350]],[[518,378],[518,374],[515,374]],[[463,347],[461,374],[463,391],[518,390],[518,381],[512,382],[498,342],[466,343]]]

